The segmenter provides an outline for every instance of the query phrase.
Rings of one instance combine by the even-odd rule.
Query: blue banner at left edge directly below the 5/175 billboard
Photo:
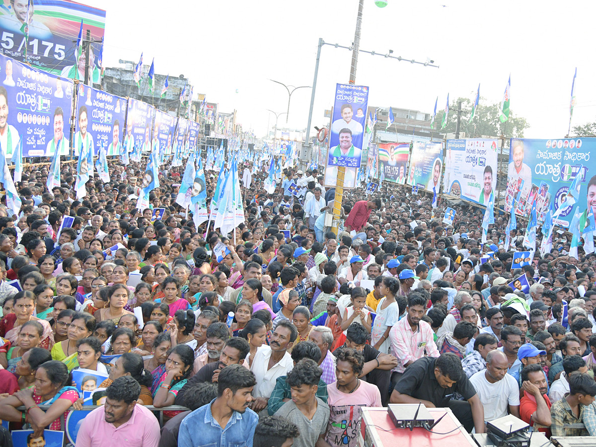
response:
[[[7,159],[21,137],[23,157],[53,156],[56,147],[69,154],[72,95],[72,81],[0,55],[0,144]]]

